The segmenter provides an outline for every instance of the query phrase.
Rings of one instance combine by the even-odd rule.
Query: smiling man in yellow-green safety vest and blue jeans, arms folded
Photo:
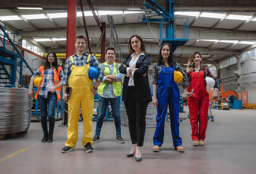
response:
[[[100,130],[103,119],[106,115],[108,103],[110,102],[116,129],[116,141],[124,143],[121,137],[121,120],[120,120],[120,95],[122,74],[119,72],[119,63],[114,62],[115,49],[108,47],[106,50],[107,62],[100,64],[104,72],[104,78],[98,87],[99,94],[99,111],[95,136],[92,138],[94,143],[100,141]]]

